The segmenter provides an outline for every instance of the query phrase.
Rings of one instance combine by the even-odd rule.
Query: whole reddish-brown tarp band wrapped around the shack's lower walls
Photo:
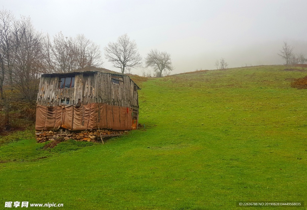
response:
[[[36,130],[131,130],[132,108],[90,103],[80,106],[37,106]]]

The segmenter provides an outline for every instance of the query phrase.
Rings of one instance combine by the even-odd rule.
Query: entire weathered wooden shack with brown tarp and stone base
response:
[[[138,127],[138,90],[129,76],[103,68],[43,74],[36,137],[96,141]]]

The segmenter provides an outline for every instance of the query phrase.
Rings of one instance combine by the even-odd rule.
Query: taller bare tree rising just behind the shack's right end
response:
[[[135,40],[130,41],[127,34],[117,38],[117,42],[109,42],[104,47],[105,58],[110,61],[115,68],[120,68],[122,74],[125,68],[138,68],[142,66],[142,56],[138,53]]]

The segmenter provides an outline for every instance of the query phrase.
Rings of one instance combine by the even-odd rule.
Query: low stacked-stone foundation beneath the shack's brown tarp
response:
[[[104,140],[105,138],[121,136],[125,132],[128,131],[113,131],[101,129],[100,131],[98,129],[69,131],[67,129],[60,129],[58,131],[35,131],[35,135],[37,143],[54,141],[60,137],[64,138],[65,140],[73,139],[76,141],[101,142],[101,138],[103,138]]]

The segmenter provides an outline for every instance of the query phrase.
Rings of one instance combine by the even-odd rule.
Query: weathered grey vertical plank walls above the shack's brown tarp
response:
[[[134,91],[134,82],[129,76],[123,76],[124,82],[114,84],[112,75],[102,72],[75,74],[73,88],[58,89],[60,76],[42,76],[37,94],[38,105],[68,105],[102,102],[109,105],[138,109],[138,90]]]

